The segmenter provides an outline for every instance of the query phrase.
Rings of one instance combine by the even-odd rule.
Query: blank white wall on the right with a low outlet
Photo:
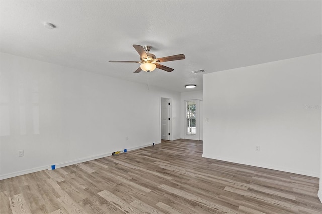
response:
[[[319,177],[320,53],[205,74],[203,102],[203,157]]]

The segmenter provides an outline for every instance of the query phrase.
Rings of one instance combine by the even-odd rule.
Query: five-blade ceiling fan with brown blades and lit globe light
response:
[[[141,64],[140,67],[136,71],[134,71],[134,73],[139,73],[142,70],[145,72],[151,72],[151,71],[154,71],[155,68],[158,68],[158,69],[161,69],[161,70],[164,70],[167,72],[171,72],[174,69],[169,68],[164,65],[160,65],[158,63],[181,60],[181,59],[186,58],[185,55],[183,55],[183,54],[177,54],[177,55],[173,55],[173,56],[156,58],[154,54],[149,53],[152,46],[146,45],[143,47],[141,45],[133,45],[133,47],[139,53],[141,61],[109,61],[109,62],[126,62],[126,63],[139,63],[139,64]]]

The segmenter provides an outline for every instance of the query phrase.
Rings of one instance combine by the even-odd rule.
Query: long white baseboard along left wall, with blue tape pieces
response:
[[[154,142],[154,145],[159,144],[159,143],[161,143],[161,142],[160,141],[159,142]],[[142,145],[142,146],[129,148],[129,149],[127,149],[127,151],[141,149],[141,148],[148,147],[148,146],[153,146],[153,143],[149,143],[149,144],[145,144],[145,145]],[[92,155],[92,156],[88,156],[88,157],[84,157],[84,158],[78,158],[78,159],[74,159],[74,160],[70,160],[70,161],[66,161],[66,162],[53,163],[52,165],[55,165],[55,168],[58,169],[58,168],[61,168],[61,167],[70,166],[70,165],[77,164],[77,163],[83,163],[83,162],[90,161],[90,160],[95,160],[95,159],[98,159],[98,158],[104,158],[104,157],[111,156],[111,155],[112,155],[112,152],[102,153],[102,154]],[[39,172],[39,171],[46,170],[46,169],[51,170],[51,165],[50,166],[48,166],[48,165],[47,166],[40,166],[40,167],[36,167],[36,168],[32,168],[32,169],[26,169],[26,170],[21,170],[21,171],[18,171],[18,172],[13,172],[13,173],[0,175],[0,180],[16,177],[16,176],[20,176],[20,175],[25,175],[25,174],[29,174],[29,173],[33,173],[33,172]]]

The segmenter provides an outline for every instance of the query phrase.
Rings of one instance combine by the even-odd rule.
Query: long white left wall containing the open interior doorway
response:
[[[0,179],[160,142],[160,97],[179,118],[177,92],[5,53],[0,65]]]

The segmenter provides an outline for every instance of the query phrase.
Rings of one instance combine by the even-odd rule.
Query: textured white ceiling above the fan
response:
[[[0,1],[0,51],[184,92],[202,74],[321,52],[321,1]],[[45,22],[57,26],[44,27]],[[133,44],[156,57],[185,54],[133,74]],[[193,83],[195,89],[185,89]]]

